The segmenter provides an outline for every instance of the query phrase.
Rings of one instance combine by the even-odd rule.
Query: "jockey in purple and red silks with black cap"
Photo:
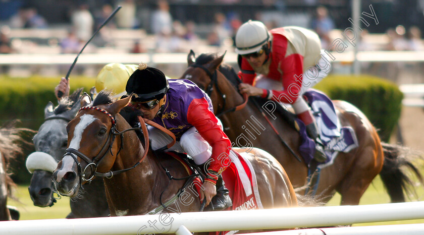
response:
[[[166,151],[187,153],[197,165],[204,164],[207,173],[201,193],[205,205],[212,201],[214,210],[230,207],[231,199],[221,172],[228,166],[231,142],[213,112],[210,98],[191,81],[168,80],[162,71],[144,63],[128,79],[126,91],[124,97],[133,94],[130,106],[140,110],[143,118],[175,134],[177,142]],[[149,135],[153,150],[162,149],[172,141],[167,134],[150,126]]]

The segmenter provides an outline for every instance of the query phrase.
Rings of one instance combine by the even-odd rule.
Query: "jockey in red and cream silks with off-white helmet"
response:
[[[240,93],[291,104],[308,135],[317,143],[314,159],[325,161],[315,119],[302,96],[328,73],[315,66],[321,56],[318,35],[294,26],[268,31],[262,22],[249,20],[240,26],[235,41],[243,82],[239,85]],[[313,72],[316,76],[311,75]]]

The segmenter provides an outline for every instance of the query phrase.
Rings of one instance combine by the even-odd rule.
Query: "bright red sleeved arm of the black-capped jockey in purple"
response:
[[[231,142],[218,125],[215,114],[208,109],[206,99],[194,99],[187,110],[187,121],[193,125],[200,136],[212,147],[212,154],[206,180],[216,184],[218,174],[225,170],[229,162]]]

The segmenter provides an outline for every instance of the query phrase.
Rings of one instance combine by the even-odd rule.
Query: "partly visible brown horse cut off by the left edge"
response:
[[[8,174],[8,165],[18,154],[23,153],[21,145],[27,144],[20,136],[23,131],[31,132],[29,129],[15,128],[13,123],[0,128],[0,221],[19,219],[19,211],[7,206],[8,197],[13,196],[12,189],[16,186]]]

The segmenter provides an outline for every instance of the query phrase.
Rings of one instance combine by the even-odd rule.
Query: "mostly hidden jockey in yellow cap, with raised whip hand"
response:
[[[98,91],[103,89],[111,89],[115,93],[115,98],[121,97],[127,93],[125,91],[127,80],[136,69],[137,65],[123,65],[118,63],[105,65],[97,74],[95,87],[90,90],[91,95],[95,96]],[[61,100],[62,97],[69,96],[69,90],[69,80],[62,78],[59,85],[55,88],[56,98]],[[61,98],[58,97],[58,91],[63,92]]]

